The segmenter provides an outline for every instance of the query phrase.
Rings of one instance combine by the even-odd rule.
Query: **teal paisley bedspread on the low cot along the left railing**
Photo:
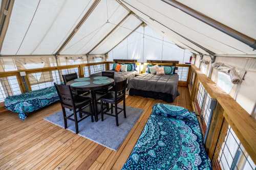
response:
[[[5,99],[5,107],[7,110],[18,113],[19,118],[24,120],[27,117],[26,113],[31,113],[58,100],[58,93],[52,86],[9,96]]]

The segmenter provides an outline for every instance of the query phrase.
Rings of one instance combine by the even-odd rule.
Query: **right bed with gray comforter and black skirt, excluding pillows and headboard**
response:
[[[147,98],[173,102],[179,95],[179,75],[140,74],[130,81],[130,95],[141,95]]]

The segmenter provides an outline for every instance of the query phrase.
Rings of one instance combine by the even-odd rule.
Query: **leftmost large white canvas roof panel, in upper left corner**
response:
[[[2,55],[54,54],[92,1],[17,0]]]

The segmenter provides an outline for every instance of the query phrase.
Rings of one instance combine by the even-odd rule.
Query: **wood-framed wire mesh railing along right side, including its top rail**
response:
[[[255,122],[249,113],[195,66],[188,85],[212,167],[256,169],[255,138],[250,137],[255,134]]]

